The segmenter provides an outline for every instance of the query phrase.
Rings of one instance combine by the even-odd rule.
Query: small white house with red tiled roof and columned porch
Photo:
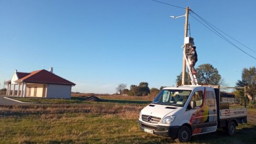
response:
[[[7,85],[6,95],[70,99],[71,88],[76,84],[55,75],[51,67],[50,71],[41,69],[30,73],[15,70],[12,79],[6,81],[5,85]]]

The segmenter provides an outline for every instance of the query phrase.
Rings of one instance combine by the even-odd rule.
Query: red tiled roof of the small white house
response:
[[[31,82],[31,83],[51,83],[51,84],[59,84],[59,85],[76,85],[75,83],[63,79],[55,74],[50,73],[45,69],[32,71],[31,73],[23,73],[24,77],[19,77],[17,82]],[[28,74],[25,76],[25,74]]]

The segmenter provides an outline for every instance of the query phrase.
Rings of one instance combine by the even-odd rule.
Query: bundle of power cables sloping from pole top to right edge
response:
[[[192,10],[191,10],[192,11]],[[247,52],[243,51],[239,46],[237,46],[236,44],[232,43],[230,40],[228,40],[226,37],[224,37],[221,33],[219,33],[216,29],[214,29],[213,25],[209,24],[208,21],[206,21],[205,19],[203,19],[202,17],[200,17],[199,15],[197,15],[194,11],[192,11],[197,17],[199,17],[202,21],[204,21],[206,23],[206,25],[208,25],[209,27],[207,27],[206,25],[204,25],[204,23],[202,23],[201,21],[199,21],[198,19],[196,19],[193,15],[191,15],[193,18],[195,18],[197,21],[199,21],[202,25],[204,25],[206,28],[208,28],[210,31],[214,32],[215,34],[217,34],[220,38],[222,38],[223,40],[227,41],[228,43],[230,43],[231,45],[233,45],[234,47],[236,47],[238,50],[242,51],[243,53],[249,55],[250,57],[256,59],[254,56],[248,54]],[[211,26],[210,26],[211,25]],[[219,30],[219,29],[218,29]],[[239,42],[240,43],[240,42]],[[253,51],[253,50],[252,50]]]

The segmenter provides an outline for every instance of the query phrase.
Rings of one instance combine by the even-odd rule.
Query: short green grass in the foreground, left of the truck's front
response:
[[[93,114],[57,117],[44,119],[30,115],[1,119],[0,140],[3,143],[146,143],[161,139],[142,133],[133,119]]]

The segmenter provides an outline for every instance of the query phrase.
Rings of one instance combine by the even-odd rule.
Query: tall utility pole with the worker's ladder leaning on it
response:
[[[189,7],[186,8],[186,14],[185,14],[185,34],[184,39],[188,36],[188,13],[189,13]],[[186,53],[186,44],[184,42],[183,52]],[[182,85],[185,85],[185,74],[186,74],[186,60],[185,55],[183,54],[183,65],[182,65]]]

